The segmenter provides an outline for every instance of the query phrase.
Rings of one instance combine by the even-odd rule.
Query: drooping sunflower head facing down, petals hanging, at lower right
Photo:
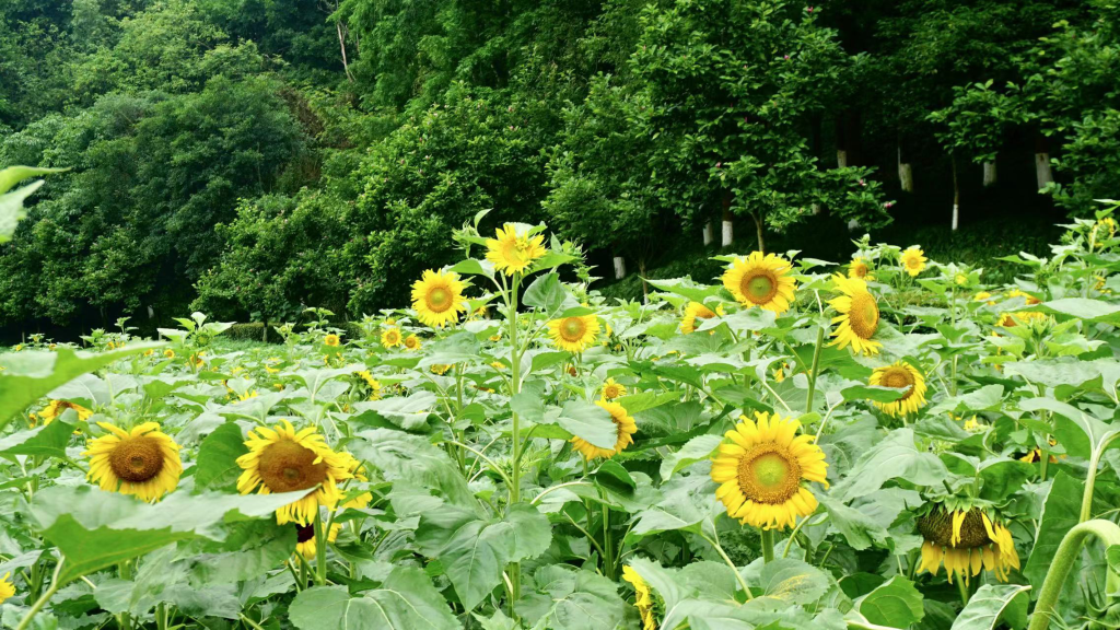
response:
[[[968,584],[980,568],[996,573],[996,580],[1007,582],[1011,568],[1019,568],[1011,532],[980,508],[949,510],[936,506],[917,519],[917,529],[925,538],[918,572],[936,575],[945,565],[949,582],[960,575]]]

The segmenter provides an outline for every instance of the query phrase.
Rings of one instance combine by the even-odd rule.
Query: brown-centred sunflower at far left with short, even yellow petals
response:
[[[86,444],[90,456],[86,478],[102,490],[134,494],[152,502],[175,490],[183,474],[179,445],[159,430],[158,423],[143,423],[127,432],[97,423],[109,432]]]

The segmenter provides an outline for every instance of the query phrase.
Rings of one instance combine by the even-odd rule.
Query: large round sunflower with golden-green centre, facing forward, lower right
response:
[[[782,529],[813,513],[816,498],[802,482],[828,488],[829,465],[813,436],[797,435],[801,423],[777,414],[755,411],[757,423],[740,419],[724,434],[711,464],[711,480],[720,484],[716,498],[727,513],[762,529]]]

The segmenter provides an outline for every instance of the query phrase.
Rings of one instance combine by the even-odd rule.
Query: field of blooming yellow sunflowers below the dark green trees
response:
[[[35,336],[0,354],[3,624],[1118,628],[1117,209],[1011,286],[864,239],[644,304],[480,213],[354,326]]]

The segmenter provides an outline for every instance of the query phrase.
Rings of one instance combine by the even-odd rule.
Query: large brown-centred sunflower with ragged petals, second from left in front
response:
[[[315,490],[302,499],[277,510],[277,522],[308,525],[318,516],[319,506],[334,509],[340,498],[338,482],[351,479],[349,462],[327,446],[314,426],[299,433],[288,420],[274,428],[256,427],[245,441],[249,453],[237,457],[244,472],[237,479],[237,491],[259,494]]]

